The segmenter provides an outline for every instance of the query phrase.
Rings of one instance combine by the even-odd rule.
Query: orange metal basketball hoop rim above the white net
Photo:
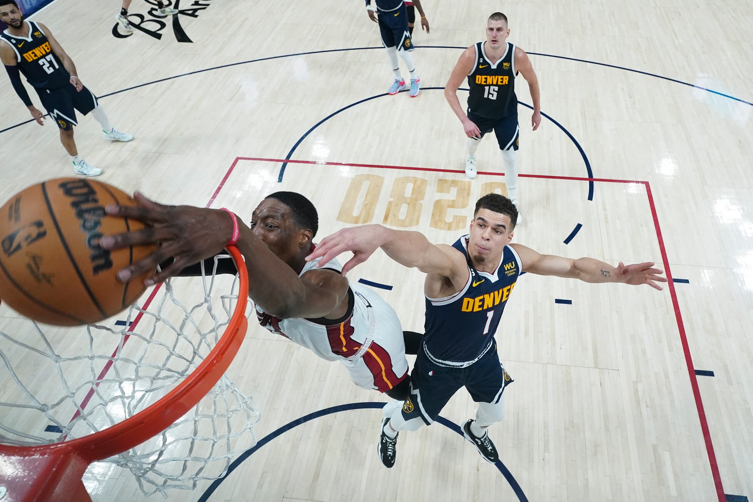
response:
[[[217,345],[196,370],[172,391],[161,397],[160,400],[157,400],[142,412],[136,413],[136,415],[111,427],[75,440],[50,445],[9,446],[0,444],[0,460],[3,457],[53,458],[73,455],[78,462],[84,462],[85,469],[92,462],[125,452],[160,434],[170,424],[196,406],[230,367],[230,363],[233,362],[233,358],[238,353],[248,329],[248,319],[245,317],[245,309],[248,304],[245,300],[248,297],[248,272],[246,272],[245,263],[238,248],[227,246],[226,249],[233,257],[236,269],[238,269],[238,301]],[[39,474],[27,473],[29,476],[39,476]],[[78,479],[80,478],[81,476],[78,476]]]

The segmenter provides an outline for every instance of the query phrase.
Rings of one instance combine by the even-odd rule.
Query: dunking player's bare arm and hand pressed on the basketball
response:
[[[194,263],[218,254],[233,235],[233,218],[220,209],[190,205],[161,205],[140,193],[134,194],[138,205],[108,205],[113,216],[133,218],[148,225],[142,230],[103,236],[99,245],[105,249],[130,245],[160,244],[153,254],[117,272],[120,281],[153,272],[146,281],[152,285],[178,275]],[[252,230],[236,218],[239,227],[238,250],[245,257],[248,270],[248,296],[264,312],[279,318],[327,317],[346,302],[348,281],[328,270],[306,272],[303,278],[267,248]],[[157,265],[174,257],[172,265],[154,272]]]

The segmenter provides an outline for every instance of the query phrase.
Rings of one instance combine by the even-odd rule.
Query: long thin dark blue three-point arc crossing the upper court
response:
[[[416,49],[462,49],[465,50],[468,47],[459,47],[456,45],[422,45],[422,46],[415,46]],[[230,66],[237,66],[237,65],[245,65],[249,62],[259,62],[259,61],[269,61],[270,59],[279,59],[282,57],[293,57],[293,56],[309,56],[310,54],[324,54],[324,53],[331,53],[331,52],[342,52],[344,50],[374,50],[374,49],[383,49],[383,46],[379,47],[349,47],[347,49],[328,49],[328,50],[309,50],[308,52],[299,52],[299,53],[292,53],[292,54],[281,54],[279,56],[268,56],[268,57],[260,57],[258,59],[248,59],[246,61],[239,61],[239,62],[231,62],[227,65],[218,65],[218,66],[212,66],[210,68],[203,68],[201,70],[194,70],[194,71],[187,71],[186,73],[181,73],[178,75],[172,75],[172,77],[166,77],[166,78],[159,78],[156,81],[150,81],[145,82],[144,84],[139,84],[131,87],[126,87],[125,89],[116,90],[112,93],[102,94],[102,96],[97,96],[97,99],[106,98],[108,96],[114,96],[115,94],[125,93],[127,90],[133,90],[138,89],[139,87],[145,87],[151,84],[159,84],[160,82],[169,81],[174,78],[181,78],[186,77],[187,75],[195,75],[197,73],[203,73],[205,71],[212,71],[212,70],[218,70],[221,68],[230,68]],[[735,101],[745,103],[746,105],[753,106],[753,103],[745,101],[744,99],[739,99],[734,96],[729,96],[728,94],[720,93],[719,91],[707,89],[706,87],[700,87],[695,84],[690,84],[688,82],[678,81],[675,78],[669,78],[669,77],[663,77],[662,75],[656,75],[654,73],[649,73],[648,71],[641,71],[641,70],[634,70],[633,68],[625,68],[624,66],[617,66],[617,65],[609,65],[605,62],[598,62],[598,61],[589,61],[588,59],[578,59],[575,57],[568,57],[568,56],[556,56],[555,54],[544,54],[544,53],[538,53],[538,52],[529,52],[529,55],[533,56],[545,56],[545,57],[553,57],[556,59],[569,59],[571,61],[578,61],[578,62],[586,62],[590,65],[601,65],[601,66],[608,66],[609,68],[617,68],[624,71],[633,71],[633,73],[640,73],[641,75],[648,75],[650,77],[656,77],[656,78],[662,78],[663,80],[675,82],[677,84],[687,85],[690,87],[694,87],[695,89],[705,90],[709,93],[716,94],[718,96],[723,96],[725,98],[734,99]],[[49,114],[46,114],[45,117],[49,116]],[[5,129],[0,129],[0,133],[9,131],[11,129],[14,129],[18,126],[23,126],[25,123],[31,123],[34,122],[34,119],[25,120],[23,122],[17,123],[14,126],[6,127]]]

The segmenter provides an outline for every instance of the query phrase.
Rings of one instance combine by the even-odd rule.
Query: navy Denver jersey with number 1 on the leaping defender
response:
[[[424,349],[431,361],[446,366],[472,363],[489,350],[520,275],[520,257],[511,246],[505,246],[491,274],[474,269],[467,247],[468,236],[453,244],[470,270],[462,291],[445,298],[426,297]]]

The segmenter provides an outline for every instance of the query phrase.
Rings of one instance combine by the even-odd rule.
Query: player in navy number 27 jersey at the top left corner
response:
[[[20,74],[34,87],[42,105],[60,129],[60,142],[71,156],[76,174],[98,176],[102,169],[90,166],[78,155],[73,126],[78,125],[75,110],[89,112],[102,126],[108,141],[131,141],[133,136],[116,131],[96,96],[81,84],[71,58],[62,50],[47,26],[23,19],[14,0],[0,0],[0,20],[8,29],[0,33],[0,59],[8,71],[14,90],[32,117],[44,126],[44,114],[32,104]]]

